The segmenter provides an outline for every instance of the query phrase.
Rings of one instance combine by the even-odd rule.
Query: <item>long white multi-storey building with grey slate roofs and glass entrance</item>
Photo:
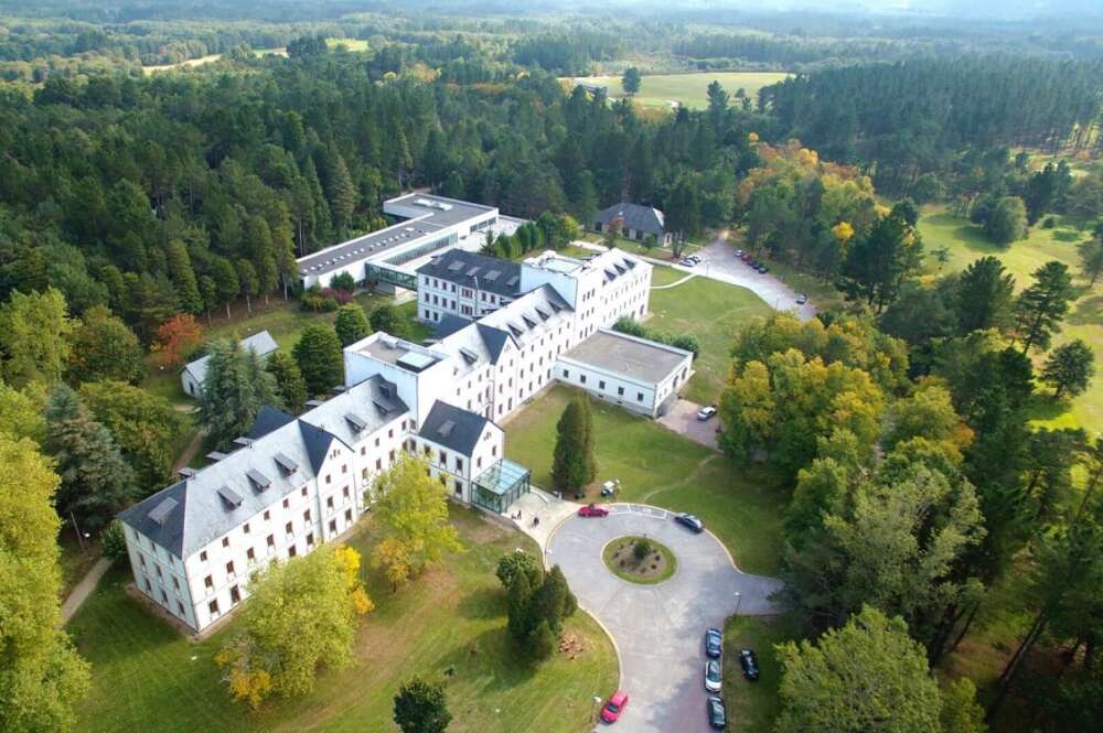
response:
[[[474,258],[463,277],[502,267]],[[439,305],[438,285],[459,270],[430,269],[420,268],[419,290],[433,279],[425,291],[437,291],[438,306],[419,316],[438,327],[436,341],[375,333],[350,345],[346,387],[299,417],[264,408],[236,450],[119,515],[136,588],[152,603],[207,628],[248,596],[255,570],[352,527],[401,451],[424,457],[456,500],[504,513],[529,489],[528,472],[504,457],[495,421],[557,380],[654,417],[689,378],[688,352],[609,330],[646,314],[652,267],[631,255],[545,252],[520,266],[515,298],[467,317],[459,299]]]

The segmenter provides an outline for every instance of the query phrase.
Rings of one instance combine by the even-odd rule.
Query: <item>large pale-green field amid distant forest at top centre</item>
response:
[[[635,101],[644,107],[662,107],[670,109],[672,101],[677,101],[690,109],[705,109],[708,106],[705,90],[714,80],[730,95],[742,89],[751,101],[758,99],[759,89],[777,84],[791,76],[784,72],[695,72],[689,74],[655,74],[644,75],[640,93]],[[572,83],[600,84],[609,89],[610,97],[624,96],[620,76],[578,76]]]

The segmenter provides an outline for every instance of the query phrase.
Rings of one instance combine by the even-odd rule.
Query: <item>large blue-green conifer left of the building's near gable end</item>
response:
[[[133,472],[115,439],[81,402],[60,386],[46,403],[45,450],[57,462],[57,511],[75,516],[82,528],[98,529],[136,496]]]

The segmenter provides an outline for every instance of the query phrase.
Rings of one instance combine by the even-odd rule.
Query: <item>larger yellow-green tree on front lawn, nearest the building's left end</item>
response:
[[[360,578],[360,553],[323,546],[274,562],[249,582],[242,630],[215,655],[229,692],[250,708],[271,694],[313,689],[322,667],[352,661],[357,619],[373,608]]]

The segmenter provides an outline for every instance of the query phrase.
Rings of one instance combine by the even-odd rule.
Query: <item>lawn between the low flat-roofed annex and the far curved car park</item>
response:
[[[697,337],[700,354],[694,359],[696,374],[689,380],[686,398],[705,405],[720,397],[736,333],[749,319],[771,312],[770,306],[750,290],[707,278],[652,290],[649,308],[651,315],[644,322],[647,328]]]

